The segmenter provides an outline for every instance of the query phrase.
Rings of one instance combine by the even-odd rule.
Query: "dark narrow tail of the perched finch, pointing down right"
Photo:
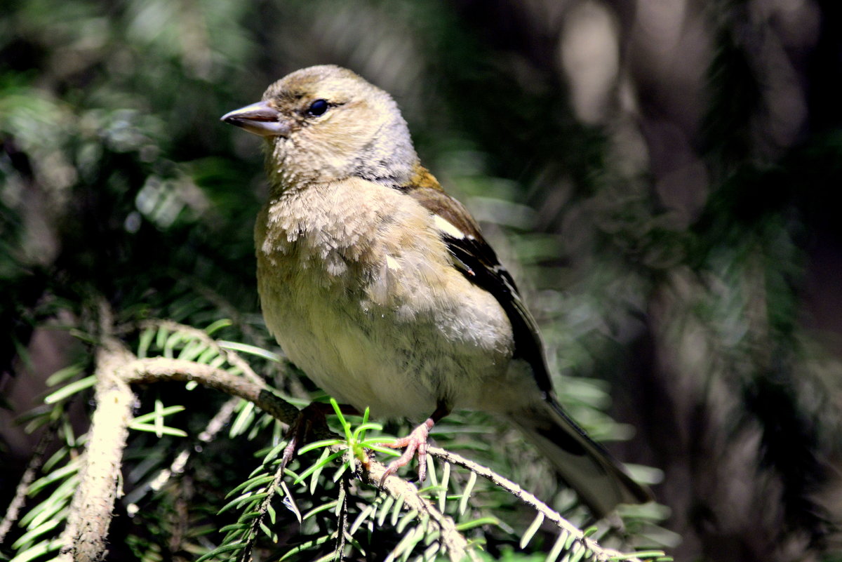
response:
[[[511,412],[508,418],[552,461],[595,517],[605,517],[617,504],[653,499],[652,492],[632,480],[552,398],[533,404],[529,411]]]

